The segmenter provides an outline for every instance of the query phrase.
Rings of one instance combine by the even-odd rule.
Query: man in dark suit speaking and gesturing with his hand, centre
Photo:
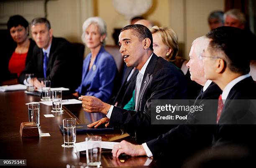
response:
[[[152,99],[185,99],[186,82],[182,72],[153,53],[152,35],[143,25],[128,25],[119,35],[120,53],[128,67],[139,70],[136,80],[136,111],[111,106],[92,96],[79,97],[84,111],[107,114],[108,119],[96,121],[90,126],[105,123],[122,126],[134,133],[138,143],[157,137],[168,126],[151,125]],[[140,88],[140,89],[139,89]]]

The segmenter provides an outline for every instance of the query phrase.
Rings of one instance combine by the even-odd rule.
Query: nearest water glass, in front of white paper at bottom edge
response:
[[[87,166],[100,168],[101,165],[101,136],[89,136],[85,138],[87,144]]]

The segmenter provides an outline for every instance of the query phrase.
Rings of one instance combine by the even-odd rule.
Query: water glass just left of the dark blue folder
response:
[[[63,119],[64,147],[73,147],[76,143],[76,119]]]

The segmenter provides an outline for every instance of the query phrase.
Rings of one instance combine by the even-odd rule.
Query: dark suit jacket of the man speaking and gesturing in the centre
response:
[[[138,111],[114,107],[110,126],[123,126],[128,133],[136,131],[138,143],[156,138],[169,128],[151,125],[151,100],[185,99],[186,90],[184,75],[173,64],[153,54],[141,83]]]

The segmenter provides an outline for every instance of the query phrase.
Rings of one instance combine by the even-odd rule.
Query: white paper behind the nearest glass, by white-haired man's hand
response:
[[[91,149],[92,146],[95,143],[98,143],[98,142],[97,141],[95,141],[95,142],[94,141],[90,141],[88,148]],[[119,144],[119,142],[101,141],[101,148],[113,149],[113,146],[116,145],[116,144]],[[87,149],[87,142],[84,141],[84,142],[75,143],[75,147],[76,147],[77,152],[86,151],[86,149]]]

